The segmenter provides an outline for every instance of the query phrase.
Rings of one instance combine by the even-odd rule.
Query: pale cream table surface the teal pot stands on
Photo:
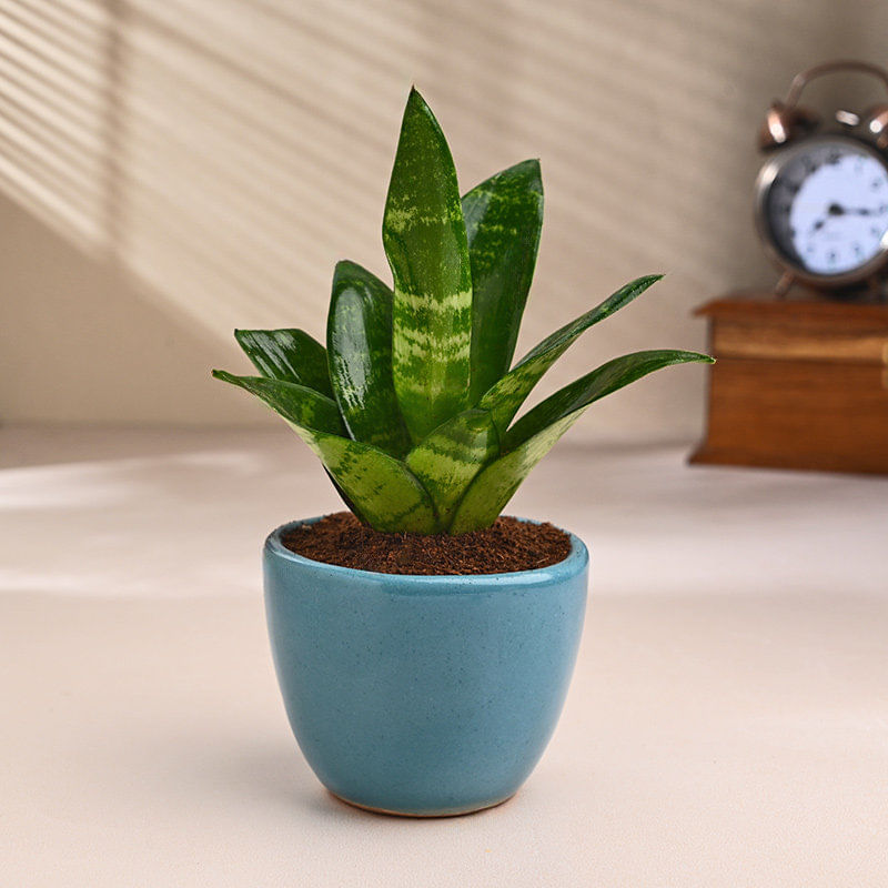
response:
[[[564,716],[481,815],[332,799],[259,552],[337,508],[281,432],[0,430],[0,886],[886,886],[888,481],[562,444],[592,549]]]

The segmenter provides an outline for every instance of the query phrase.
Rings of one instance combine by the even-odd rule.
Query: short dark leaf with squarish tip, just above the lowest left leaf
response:
[[[234,339],[263,376],[333,397],[326,350],[304,330],[235,330]]]

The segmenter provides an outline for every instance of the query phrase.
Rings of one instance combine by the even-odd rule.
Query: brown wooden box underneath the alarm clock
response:
[[[692,463],[888,474],[888,305],[743,293],[696,314],[717,363]]]

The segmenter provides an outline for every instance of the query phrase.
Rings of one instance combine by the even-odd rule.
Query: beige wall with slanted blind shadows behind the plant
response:
[[[245,366],[235,325],[320,336],[337,259],[387,273],[412,82],[464,188],[542,158],[519,349],[668,273],[551,383],[702,346],[695,304],[774,278],[749,212],[768,100],[825,58],[882,61],[885,33],[865,0],[2,0],[0,418],[270,421],[209,369]],[[693,436],[702,392],[666,371],[572,436]]]

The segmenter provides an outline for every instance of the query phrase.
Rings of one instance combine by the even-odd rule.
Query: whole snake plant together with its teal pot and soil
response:
[[[321,781],[360,807],[464,814],[524,783],[573,672],[588,555],[572,534],[500,514],[593,402],[712,360],[624,355],[516,420],[581,333],[658,280],[633,281],[513,366],[542,221],[535,160],[461,199],[441,128],[413,90],[383,220],[393,286],[340,262],[326,347],[301,330],[241,330],[260,375],[213,372],[289,423],[354,515],[274,531],[264,574],[293,731]],[[371,551],[383,561],[362,561]],[[473,564],[478,553],[494,557]],[[346,555],[364,569],[342,566]]]

